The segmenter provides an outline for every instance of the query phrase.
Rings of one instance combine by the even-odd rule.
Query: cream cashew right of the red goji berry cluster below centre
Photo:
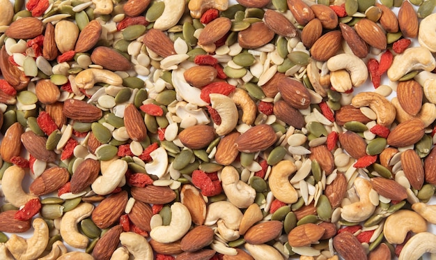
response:
[[[221,181],[228,201],[238,208],[248,208],[256,198],[256,190],[240,181],[238,171],[232,166],[226,166],[221,171]]]

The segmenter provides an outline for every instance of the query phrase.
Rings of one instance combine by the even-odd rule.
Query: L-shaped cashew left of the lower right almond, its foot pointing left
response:
[[[343,206],[341,217],[349,222],[361,222],[371,217],[375,211],[375,206],[370,200],[370,194],[375,190],[370,181],[361,177],[355,179],[354,185],[360,201]]]

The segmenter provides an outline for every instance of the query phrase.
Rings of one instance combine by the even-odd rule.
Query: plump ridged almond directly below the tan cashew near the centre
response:
[[[263,151],[272,146],[277,141],[277,135],[271,125],[256,125],[240,135],[235,144],[238,151],[244,153],[254,153]]]

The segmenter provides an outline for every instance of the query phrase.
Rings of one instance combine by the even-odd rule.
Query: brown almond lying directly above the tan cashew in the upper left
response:
[[[132,63],[115,49],[99,46],[93,50],[91,61],[107,70],[125,71],[132,68]]]

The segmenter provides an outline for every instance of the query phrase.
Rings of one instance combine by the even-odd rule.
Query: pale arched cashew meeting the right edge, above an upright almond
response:
[[[391,67],[387,70],[387,77],[396,82],[407,72],[412,70],[434,70],[435,57],[426,47],[413,47],[406,49],[403,54],[395,56]]]

